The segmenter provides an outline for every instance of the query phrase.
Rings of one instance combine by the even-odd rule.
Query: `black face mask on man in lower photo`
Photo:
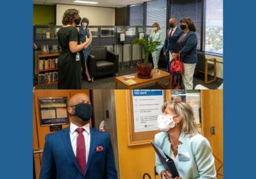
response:
[[[93,108],[91,107],[90,104],[87,103],[81,103],[81,104],[77,104],[75,106],[71,106],[71,107],[75,107],[75,116],[78,116],[78,118],[84,120],[84,121],[88,121],[91,118],[91,115],[93,115]]]

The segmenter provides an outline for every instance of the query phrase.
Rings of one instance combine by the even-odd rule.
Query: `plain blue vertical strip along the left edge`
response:
[[[1,1],[0,178],[33,178],[33,1]]]

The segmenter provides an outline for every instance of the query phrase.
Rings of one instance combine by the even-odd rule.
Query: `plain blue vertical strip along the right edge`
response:
[[[255,7],[224,0],[224,178],[256,178]]]

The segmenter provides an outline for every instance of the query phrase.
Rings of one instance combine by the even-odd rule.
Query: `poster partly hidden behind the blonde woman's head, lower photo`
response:
[[[192,106],[197,124],[201,124],[201,92],[196,89],[171,90],[171,100],[185,102]]]

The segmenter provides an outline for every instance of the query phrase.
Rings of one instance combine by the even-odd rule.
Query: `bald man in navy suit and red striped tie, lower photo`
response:
[[[70,126],[45,136],[40,179],[117,179],[109,134],[89,126],[89,97],[72,96],[67,111]]]

